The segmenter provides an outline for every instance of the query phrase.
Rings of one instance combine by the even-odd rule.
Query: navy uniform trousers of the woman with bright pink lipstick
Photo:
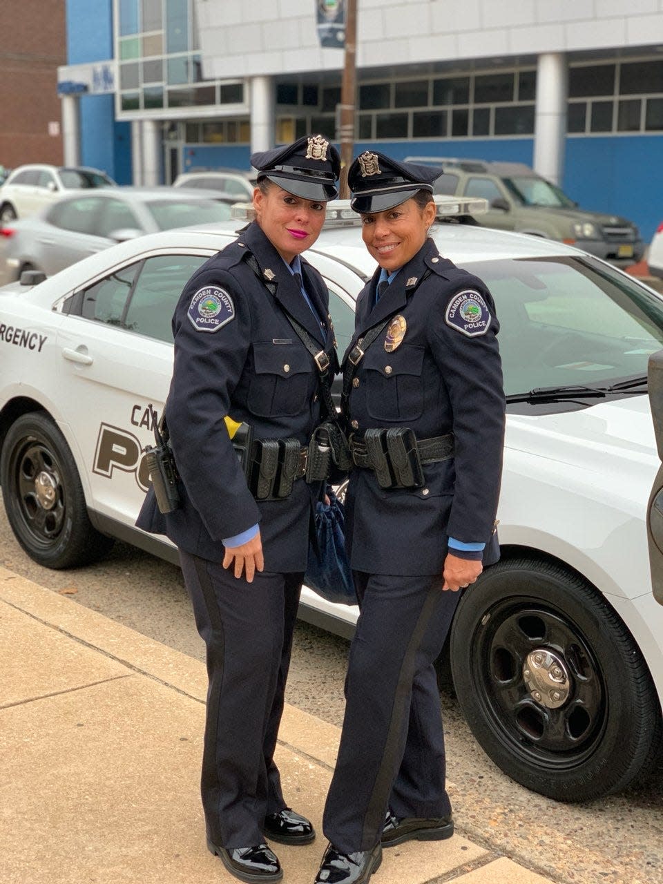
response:
[[[179,560],[207,647],[201,779],[207,834],[229,849],[259,844],[260,821],[286,806],[273,756],[303,575],[263,571],[247,583],[232,568],[182,550]]]

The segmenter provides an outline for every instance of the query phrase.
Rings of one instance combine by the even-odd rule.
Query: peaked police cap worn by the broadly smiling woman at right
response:
[[[364,150],[347,171],[347,184],[352,191],[350,208],[361,214],[392,209],[417,190],[432,194],[433,181],[441,174],[439,166],[397,163],[377,151]]]

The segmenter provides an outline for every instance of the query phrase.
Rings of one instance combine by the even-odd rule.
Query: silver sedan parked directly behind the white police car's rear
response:
[[[0,226],[0,284],[23,271],[46,276],[143,233],[230,218],[230,202],[212,192],[171,187],[76,191],[41,214]]]

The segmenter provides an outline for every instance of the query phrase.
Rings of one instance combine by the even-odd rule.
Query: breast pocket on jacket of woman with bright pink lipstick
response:
[[[261,417],[296,415],[308,407],[311,359],[297,344],[254,344],[248,408]]]

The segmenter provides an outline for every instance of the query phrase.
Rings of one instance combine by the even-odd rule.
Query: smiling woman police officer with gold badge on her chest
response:
[[[428,237],[441,172],[368,151],[348,172],[379,266],[343,366],[361,615],[320,884],[364,884],[383,847],[453,834],[433,661],[458,590],[498,556],[505,400],[491,294]]]

